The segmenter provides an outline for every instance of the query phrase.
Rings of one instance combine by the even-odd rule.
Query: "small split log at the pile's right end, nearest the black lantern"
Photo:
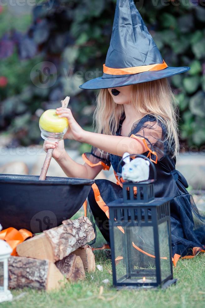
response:
[[[75,254],[76,256],[81,257],[86,272],[95,271],[95,256],[92,252],[92,248],[89,245],[82,246],[71,254]]]

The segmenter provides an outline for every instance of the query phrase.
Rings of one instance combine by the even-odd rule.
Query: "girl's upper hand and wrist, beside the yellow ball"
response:
[[[67,118],[69,122],[69,127],[64,135],[64,139],[77,140],[81,141],[83,132],[85,132],[81,126],[76,122],[71,113],[71,109],[60,107],[56,109],[56,114],[59,115],[60,118]]]

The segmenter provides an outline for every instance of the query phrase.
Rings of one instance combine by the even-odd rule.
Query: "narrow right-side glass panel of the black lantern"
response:
[[[171,260],[169,247],[169,222],[165,221],[158,226],[160,246],[161,280],[171,275]]]

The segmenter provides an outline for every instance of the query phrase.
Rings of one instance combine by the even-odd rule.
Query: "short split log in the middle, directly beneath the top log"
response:
[[[62,260],[56,261],[55,265],[70,282],[75,282],[79,279],[83,280],[85,278],[85,270],[81,257],[79,256],[71,254]]]

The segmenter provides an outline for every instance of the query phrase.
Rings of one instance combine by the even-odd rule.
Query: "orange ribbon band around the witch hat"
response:
[[[113,69],[111,67],[105,66],[103,64],[103,73],[108,75],[132,75],[139,74],[148,71],[160,71],[162,69],[166,69],[168,65],[163,60],[163,63],[151,64],[151,65],[142,65],[142,66],[134,66],[134,67],[126,67],[124,69]]]

